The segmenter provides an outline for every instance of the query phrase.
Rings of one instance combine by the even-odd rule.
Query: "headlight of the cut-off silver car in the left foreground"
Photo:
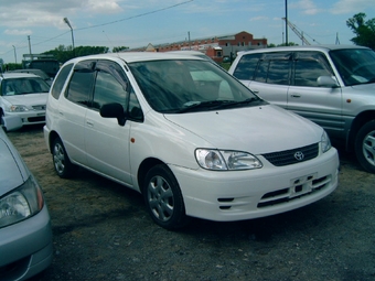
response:
[[[20,187],[0,198],[0,228],[35,215],[43,204],[42,191],[30,176]]]

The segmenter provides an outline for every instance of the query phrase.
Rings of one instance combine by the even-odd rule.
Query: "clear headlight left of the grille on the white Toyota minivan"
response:
[[[262,166],[259,159],[242,151],[196,149],[195,159],[203,169],[215,171],[250,170]]]

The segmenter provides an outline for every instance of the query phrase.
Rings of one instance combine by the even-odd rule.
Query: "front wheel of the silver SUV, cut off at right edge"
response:
[[[375,173],[375,120],[365,123],[357,132],[355,155],[364,170]]]

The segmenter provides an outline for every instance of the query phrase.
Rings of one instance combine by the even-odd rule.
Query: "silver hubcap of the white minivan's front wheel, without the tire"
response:
[[[152,214],[160,220],[167,221],[173,215],[173,193],[168,182],[161,176],[151,179],[148,186],[148,201]]]

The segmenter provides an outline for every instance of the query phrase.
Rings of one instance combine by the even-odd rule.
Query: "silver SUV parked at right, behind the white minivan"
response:
[[[255,94],[323,127],[375,173],[375,52],[347,45],[238,53],[229,71]]]

